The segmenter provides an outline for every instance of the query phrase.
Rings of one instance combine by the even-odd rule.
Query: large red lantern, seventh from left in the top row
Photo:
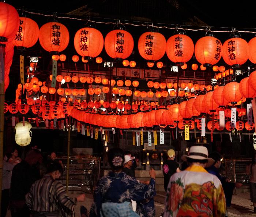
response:
[[[187,35],[179,33],[167,40],[166,54],[172,62],[183,65],[192,58],[193,53],[194,44]]]

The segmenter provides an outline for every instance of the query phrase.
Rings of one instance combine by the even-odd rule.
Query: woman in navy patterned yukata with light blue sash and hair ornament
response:
[[[94,190],[94,201],[90,216],[111,217],[153,217],[155,216],[155,170],[151,169],[149,185],[139,183],[134,177],[122,172],[124,151],[113,148],[108,151],[108,161],[112,171],[99,179]],[[131,200],[137,202],[136,212],[132,210]]]

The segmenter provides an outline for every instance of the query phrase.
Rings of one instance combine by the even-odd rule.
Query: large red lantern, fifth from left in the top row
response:
[[[129,32],[115,29],[106,35],[104,46],[111,58],[123,60],[132,53],[133,38]]]

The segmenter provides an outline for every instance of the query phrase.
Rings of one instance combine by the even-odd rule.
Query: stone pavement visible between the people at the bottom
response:
[[[76,197],[78,192],[71,192],[71,197]],[[157,195],[154,197],[155,208],[156,208],[156,217],[163,212],[164,201],[165,201],[165,192],[157,192]],[[75,216],[80,217],[80,206],[85,206],[90,210],[91,204],[93,201],[92,194],[86,194],[86,200],[84,202],[79,202],[75,206]],[[228,208],[230,217],[251,217],[256,216],[256,213],[253,213],[253,205],[250,200],[250,193],[237,193],[234,194],[231,201],[231,206]],[[11,217],[10,211],[7,212],[7,217]]]

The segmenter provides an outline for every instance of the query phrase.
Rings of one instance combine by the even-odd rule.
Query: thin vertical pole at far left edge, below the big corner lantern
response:
[[[0,44],[0,52],[1,52],[0,56],[3,57],[3,59],[0,59],[0,73],[2,73],[2,75],[4,75],[4,71],[3,71],[4,70],[4,47],[5,47],[5,44]],[[3,179],[3,147],[4,147],[4,76],[3,76],[2,82],[0,83],[0,186],[2,186],[2,179]],[[1,201],[1,198],[2,198],[2,191],[0,191],[0,201]],[[0,203],[0,210],[1,210],[1,203]]]

